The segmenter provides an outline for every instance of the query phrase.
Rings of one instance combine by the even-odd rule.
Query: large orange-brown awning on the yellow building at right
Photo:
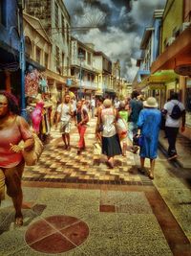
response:
[[[191,26],[153,62],[151,73],[168,69],[182,76],[191,76]]]

